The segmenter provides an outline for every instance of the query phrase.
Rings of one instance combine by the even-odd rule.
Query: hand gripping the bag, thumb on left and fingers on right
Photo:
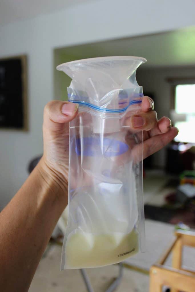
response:
[[[132,131],[144,130],[144,158],[163,148],[178,133],[177,128],[171,128],[170,119],[163,117],[157,120],[153,107],[153,100],[145,96],[142,99],[141,112],[126,120]],[[44,154],[40,163],[42,169],[63,190],[68,188],[69,121],[77,113],[77,104],[58,100],[49,102],[44,109]],[[142,145],[134,147],[133,152],[135,156],[142,157]]]

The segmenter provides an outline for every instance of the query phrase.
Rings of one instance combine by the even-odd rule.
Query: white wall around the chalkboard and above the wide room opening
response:
[[[53,98],[53,49],[194,25],[194,1],[101,0],[0,28],[0,57],[28,55],[29,132],[0,131],[0,209],[42,153],[42,113]]]

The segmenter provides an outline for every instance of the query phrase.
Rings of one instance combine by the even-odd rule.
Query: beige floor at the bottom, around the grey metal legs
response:
[[[79,270],[60,271],[61,246],[55,245],[39,264],[29,292],[86,292]],[[106,291],[118,275],[118,265],[87,269],[94,292]],[[147,275],[124,269],[120,286],[115,292],[148,292]]]

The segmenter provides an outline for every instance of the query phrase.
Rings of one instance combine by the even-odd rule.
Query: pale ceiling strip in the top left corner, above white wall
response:
[[[34,18],[92,0],[0,0],[0,25]]]

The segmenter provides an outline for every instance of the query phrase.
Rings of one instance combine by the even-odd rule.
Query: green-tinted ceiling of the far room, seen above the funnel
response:
[[[142,68],[195,65],[195,27],[125,39],[60,48],[57,52],[70,60],[112,55],[141,56]],[[67,59],[67,58],[66,58]]]

